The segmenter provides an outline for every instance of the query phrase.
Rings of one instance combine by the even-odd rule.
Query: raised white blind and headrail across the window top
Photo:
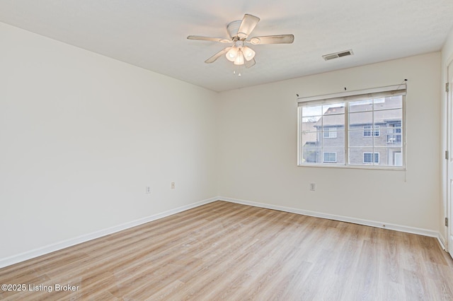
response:
[[[341,93],[333,93],[326,95],[316,95],[304,98],[297,98],[297,103],[300,106],[306,102],[342,102],[347,100],[367,100],[372,98],[381,98],[386,96],[406,95],[406,83],[400,85],[387,85],[385,87],[371,88],[365,90],[345,91]]]

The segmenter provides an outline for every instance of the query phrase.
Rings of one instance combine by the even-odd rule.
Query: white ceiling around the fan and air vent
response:
[[[233,75],[226,47],[188,35],[228,37],[226,24],[260,17],[256,65]],[[181,81],[224,91],[438,51],[453,26],[452,0],[1,0],[0,21]],[[323,54],[353,56],[324,61]]]

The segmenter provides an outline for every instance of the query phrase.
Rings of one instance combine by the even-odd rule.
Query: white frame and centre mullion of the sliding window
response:
[[[371,88],[366,90],[352,90],[342,93],[334,93],[329,95],[317,95],[310,97],[299,97],[297,98],[298,102],[298,135],[297,135],[297,165],[300,167],[339,167],[339,168],[358,168],[358,169],[378,169],[378,170],[406,170],[406,83],[400,85],[389,85],[379,88]],[[349,163],[349,152],[350,146],[348,141],[348,132],[350,131],[349,125],[349,113],[348,113],[348,103],[351,101],[357,100],[367,100],[367,99],[377,99],[377,98],[386,98],[390,96],[402,96],[402,120],[401,120],[401,157],[402,164],[401,166],[396,165],[377,165],[363,163],[363,164],[352,164]],[[344,143],[344,155],[345,163],[344,164],[328,164],[328,163],[305,163],[302,161],[303,158],[303,146],[302,142],[302,109],[301,107],[315,106],[315,105],[329,105],[335,103],[345,103],[345,143]],[[373,133],[374,134],[374,133]],[[380,129],[379,129],[380,135]],[[329,134],[330,136],[330,134]],[[373,137],[373,136],[371,136]],[[380,156],[380,155],[379,155]],[[380,160],[380,158],[379,158]],[[338,158],[337,158],[338,161]]]

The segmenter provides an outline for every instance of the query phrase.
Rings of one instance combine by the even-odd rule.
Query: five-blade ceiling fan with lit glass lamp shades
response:
[[[246,46],[247,43],[251,45],[291,44],[294,41],[294,35],[265,35],[248,38],[253,29],[255,29],[259,20],[260,18],[246,13],[242,20],[236,20],[229,23],[226,25],[226,30],[228,30],[229,33],[228,39],[221,37],[202,37],[200,35],[189,35],[187,38],[189,40],[203,40],[233,44],[232,46],[222,49],[207,59],[205,61],[207,64],[211,64],[214,61],[217,61],[219,57],[222,57],[222,55],[225,55],[226,59],[232,61],[235,65],[245,64],[247,68],[250,68],[256,64],[254,59],[255,52],[251,49],[251,47]]]

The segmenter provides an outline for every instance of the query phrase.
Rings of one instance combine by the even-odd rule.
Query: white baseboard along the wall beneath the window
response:
[[[407,233],[418,234],[418,235],[423,235],[423,236],[435,237],[435,238],[437,238],[437,240],[440,241],[440,239],[439,239],[440,233],[433,231],[433,230],[413,228],[413,227],[408,227],[408,226],[404,226],[404,225],[382,223],[382,222],[378,222],[378,221],[374,221],[374,220],[362,220],[360,218],[350,218],[348,216],[336,216],[336,215],[328,214],[328,213],[307,211],[307,210],[285,207],[285,206],[275,206],[275,205],[270,205],[268,203],[257,203],[254,201],[246,201],[246,200],[241,200],[241,199],[231,199],[231,198],[227,198],[227,197],[223,197],[223,196],[219,196],[219,200],[229,201],[231,203],[241,203],[243,205],[248,205],[248,206],[255,206],[255,207],[260,207],[260,208],[268,208],[268,209],[274,209],[274,210],[278,210],[278,211],[297,213],[297,214],[302,214],[304,216],[314,216],[316,218],[326,218],[328,220],[338,220],[341,222],[354,223],[357,225],[367,225],[367,226],[376,227],[376,228],[389,229],[389,230],[395,230],[395,231],[400,231],[400,232],[407,232]],[[443,247],[443,243],[441,243],[441,246]]]

